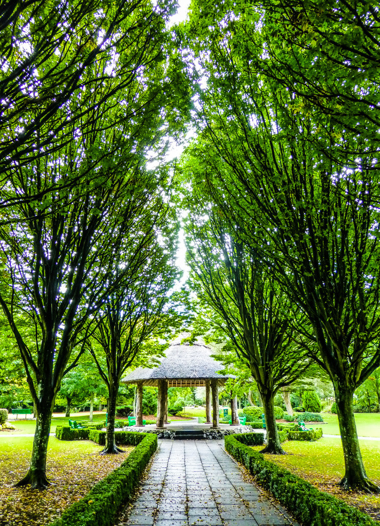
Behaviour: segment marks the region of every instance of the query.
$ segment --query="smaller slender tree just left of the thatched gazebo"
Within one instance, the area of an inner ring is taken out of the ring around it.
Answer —
[[[151,351],[148,341],[170,327],[167,292],[178,277],[173,264],[177,227],[172,212],[172,207],[159,198],[151,199],[130,225],[108,278],[113,292],[95,316],[94,345],[91,340],[88,345],[108,388],[107,436],[102,454],[120,451],[114,428],[121,376],[138,354]],[[153,350],[157,352],[160,347]],[[106,357],[106,368],[98,359],[97,348]],[[144,361],[141,356],[139,359]]]

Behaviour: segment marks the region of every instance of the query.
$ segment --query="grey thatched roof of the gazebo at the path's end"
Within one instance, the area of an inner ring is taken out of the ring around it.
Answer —
[[[223,386],[232,375],[220,375],[221,362],[211,358],[212,350],[203,342],[180,343],[174,341],[160,358],[160,365],[153,369],[139,367],[121,381],[125,383],[142,382],[143,386],[157,387],[160,379],[168,380],[168,387],[203,387],[206,380],[216,378],[218,386]]]

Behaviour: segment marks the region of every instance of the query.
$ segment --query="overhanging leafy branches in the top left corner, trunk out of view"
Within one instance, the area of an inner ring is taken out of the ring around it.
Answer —
[[[15,164],[27,166],[31,160],[54,154],[65,141],[69,143],[73,127],[86,123],[85,134],[91,135],[94,117],[105,112],[112,116],[104,129],[110,122],[120,126],[125,119],[135,120],[146,104],[154,106],[157,96],[169,101],[177,93],[177,108],[188,104],[180,93],[180,69],[176,73],[174,64],[169,76],[177,76],[175,83],[166,82],[161,70],[162,83],[156,85],[156,94],[151,92],[143,102],[139,95],[146,88],[142,84],[147,68],[160,69],[165,54],[179,59],[170,46],[170,32],[165,31],[173,6],[171,0],[155,7],[147,0],[63,0],[59,4],[17,0],[2,6],[1,207],[18,200],[43,200],[57,188],[57,181],[52,180],[49,186],[14,194],[6,183]],[[124,94],[119,100],[118,93]],[[114,100],[105,106],[109,97]],[[180,123],[176,108],[171,107],[169,118],[172,125]],[[68,174],[70,184],[79,182],[79,175],[75,171]]]

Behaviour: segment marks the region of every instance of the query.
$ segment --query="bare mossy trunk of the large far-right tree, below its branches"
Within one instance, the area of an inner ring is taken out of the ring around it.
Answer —
[[[334,390],[345,464],[340,485],[345,490],[380,493],[380,488],[368,479],[364,469],[354,417],[353,390],[338,384],[334,384]]]

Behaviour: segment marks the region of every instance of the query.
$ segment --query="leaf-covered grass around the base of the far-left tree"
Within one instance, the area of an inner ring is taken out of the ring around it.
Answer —
[[[0,464],[0,524],[43,526],[59,517],[68,505],[84,497],[93,485],[123,462],[133,447],[120,455],[99,456],[101,446],[89,440],[64,442],[50,437],[46,491],[13,485],[26,474],[33,437],[10,436],[2,440]]]

